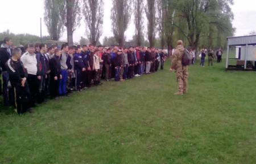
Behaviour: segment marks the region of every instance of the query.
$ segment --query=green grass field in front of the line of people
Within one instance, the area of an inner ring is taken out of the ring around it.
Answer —
[[[255,163],[256,72],[199,61],[183,96],[168,59],[157,73],[103,81],[34,114],[1,107],[0,163]]]

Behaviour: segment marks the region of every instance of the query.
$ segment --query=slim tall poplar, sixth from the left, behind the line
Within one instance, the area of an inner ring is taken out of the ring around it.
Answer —
[[[156,7],[155,0],[147,0],[147,5],[145,8],[147,16],[147,37],[150,42],[150,47],[154,46],[155,40],[155,29],[156,29]]]

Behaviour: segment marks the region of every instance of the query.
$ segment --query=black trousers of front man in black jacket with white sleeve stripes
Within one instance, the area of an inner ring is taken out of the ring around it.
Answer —
[[[30,102],[19,102],[17,97],[22,96],[24,93],[27,93],[27,96],[29,96],[30,90],[28,88],[28,84],[25,84],[24,87],[16,86],[14,92],[16,96],[17,113],[26,113],[30,109]]]

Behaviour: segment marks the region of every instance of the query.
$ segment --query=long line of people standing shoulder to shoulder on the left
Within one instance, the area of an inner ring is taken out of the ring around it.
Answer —
[[[26,44],[24,52],[11,49],[6,37],[0,49],[5,106],[15,105],[22,114],[48,96],[59,98],[69,92],[102,84],[101,79],[123,81],[163,70],[164,51],[141,46],[105,48],[103,46]],[[10,83],[9,83],[10,82]],[[15,100],[16,99],[16,100]]]

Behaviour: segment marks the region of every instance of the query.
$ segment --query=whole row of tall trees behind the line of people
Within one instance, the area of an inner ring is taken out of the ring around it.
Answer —
[[[112,0],[113,37],[104,37],[103,44],[124,46],[125,31],[133,23],[131,41],[139,46],[171,50],[177,40],[183,40],[191,49],[225,48],[226,37],[236,31],[230,8],[233,3],[233,0]],[[80,42],[94,45],[99,42],[104,28],[103,0],[44,0],[44,10],[44,23],[51,40],[59,40],[67,29],[68,44],[73,45],[73,32],[84,20],[87,38],[81,37]]]

